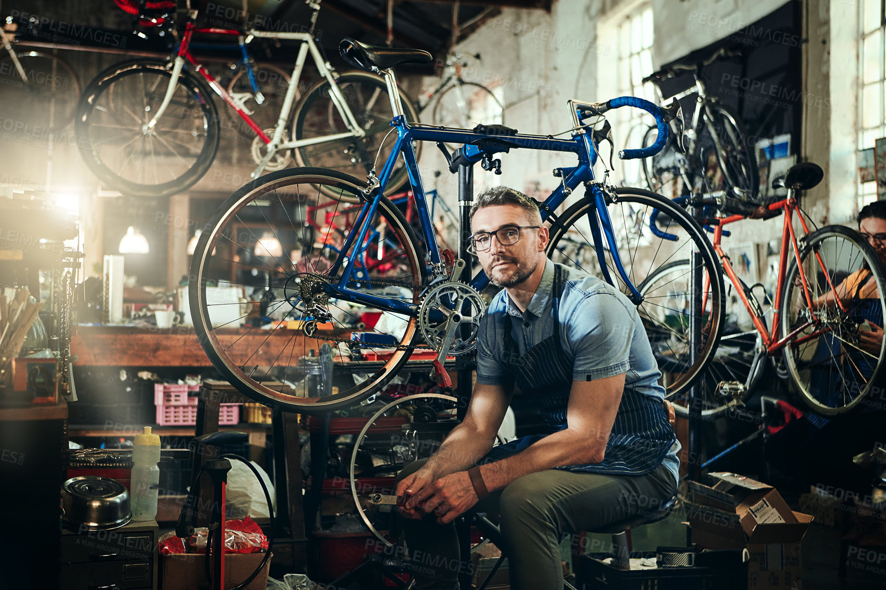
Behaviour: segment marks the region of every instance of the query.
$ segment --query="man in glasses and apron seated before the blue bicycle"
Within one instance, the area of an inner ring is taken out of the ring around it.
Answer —
[[[633,303],[548,260],[538,206],[517,190],[487,190],[470,219],[471,250],[504,290],[480,323],[464,421],[398,477],[417,587],[458,588],[452,521],[473,508],[501,515],[511,588],[562,590],[561,534],[664,504],[680,443]],[[538,400],[548,428],[493,448],[514,385]]]

